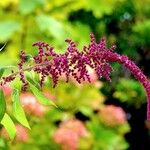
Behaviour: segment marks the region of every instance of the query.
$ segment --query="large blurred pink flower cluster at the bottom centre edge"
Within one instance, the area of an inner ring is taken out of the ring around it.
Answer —
[[[61,123],[54,134],[54,141],[60,144],[63,150],[76,150],[80,138],[87,135],[84,124],[77,119],[71,119]]]

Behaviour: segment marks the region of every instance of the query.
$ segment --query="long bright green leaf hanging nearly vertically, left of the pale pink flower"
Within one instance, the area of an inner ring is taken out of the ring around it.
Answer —
[[[26,115],[24,113],[24,110],[22,108],[22,105],[21,105],[21,102],[20,102],[20,99],[19,99],[19,92],[18,92],[17,89],[13,90],[12,99],[13,99],[13,115],[14,115],[14,117],[23,126],[30,129],[28,120],[26,118]]]

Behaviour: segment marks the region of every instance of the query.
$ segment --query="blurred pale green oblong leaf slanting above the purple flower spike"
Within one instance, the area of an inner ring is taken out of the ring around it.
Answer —
[[[57,40],[63,40],[65,33],[61,22],[47,15],[36,17],[37,24],[42,32],[52,35]]]

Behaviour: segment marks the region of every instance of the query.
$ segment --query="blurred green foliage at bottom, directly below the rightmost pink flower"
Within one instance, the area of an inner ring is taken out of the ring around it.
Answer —
[[[93,118],[92,121],[87,123],[89,130],[93,136],[93,146],[94,150],[97,149],[127,149],[128,143],[126,143],[118,132],[112,130],[111,128],[106,128],[101,126],[97,118]],[[120,127],[118,127],[120,128]],[[129,127],[127,129],[129,131]],[[103,140],[102,140],[103,139]]]

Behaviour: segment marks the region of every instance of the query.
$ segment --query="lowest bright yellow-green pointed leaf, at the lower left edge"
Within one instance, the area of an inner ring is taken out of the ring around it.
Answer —
[[[10,139],[13,140],[16,135],[16,127],[7,113],[5,113],[1,124],[5,127],[6,131],[8,132]]]

